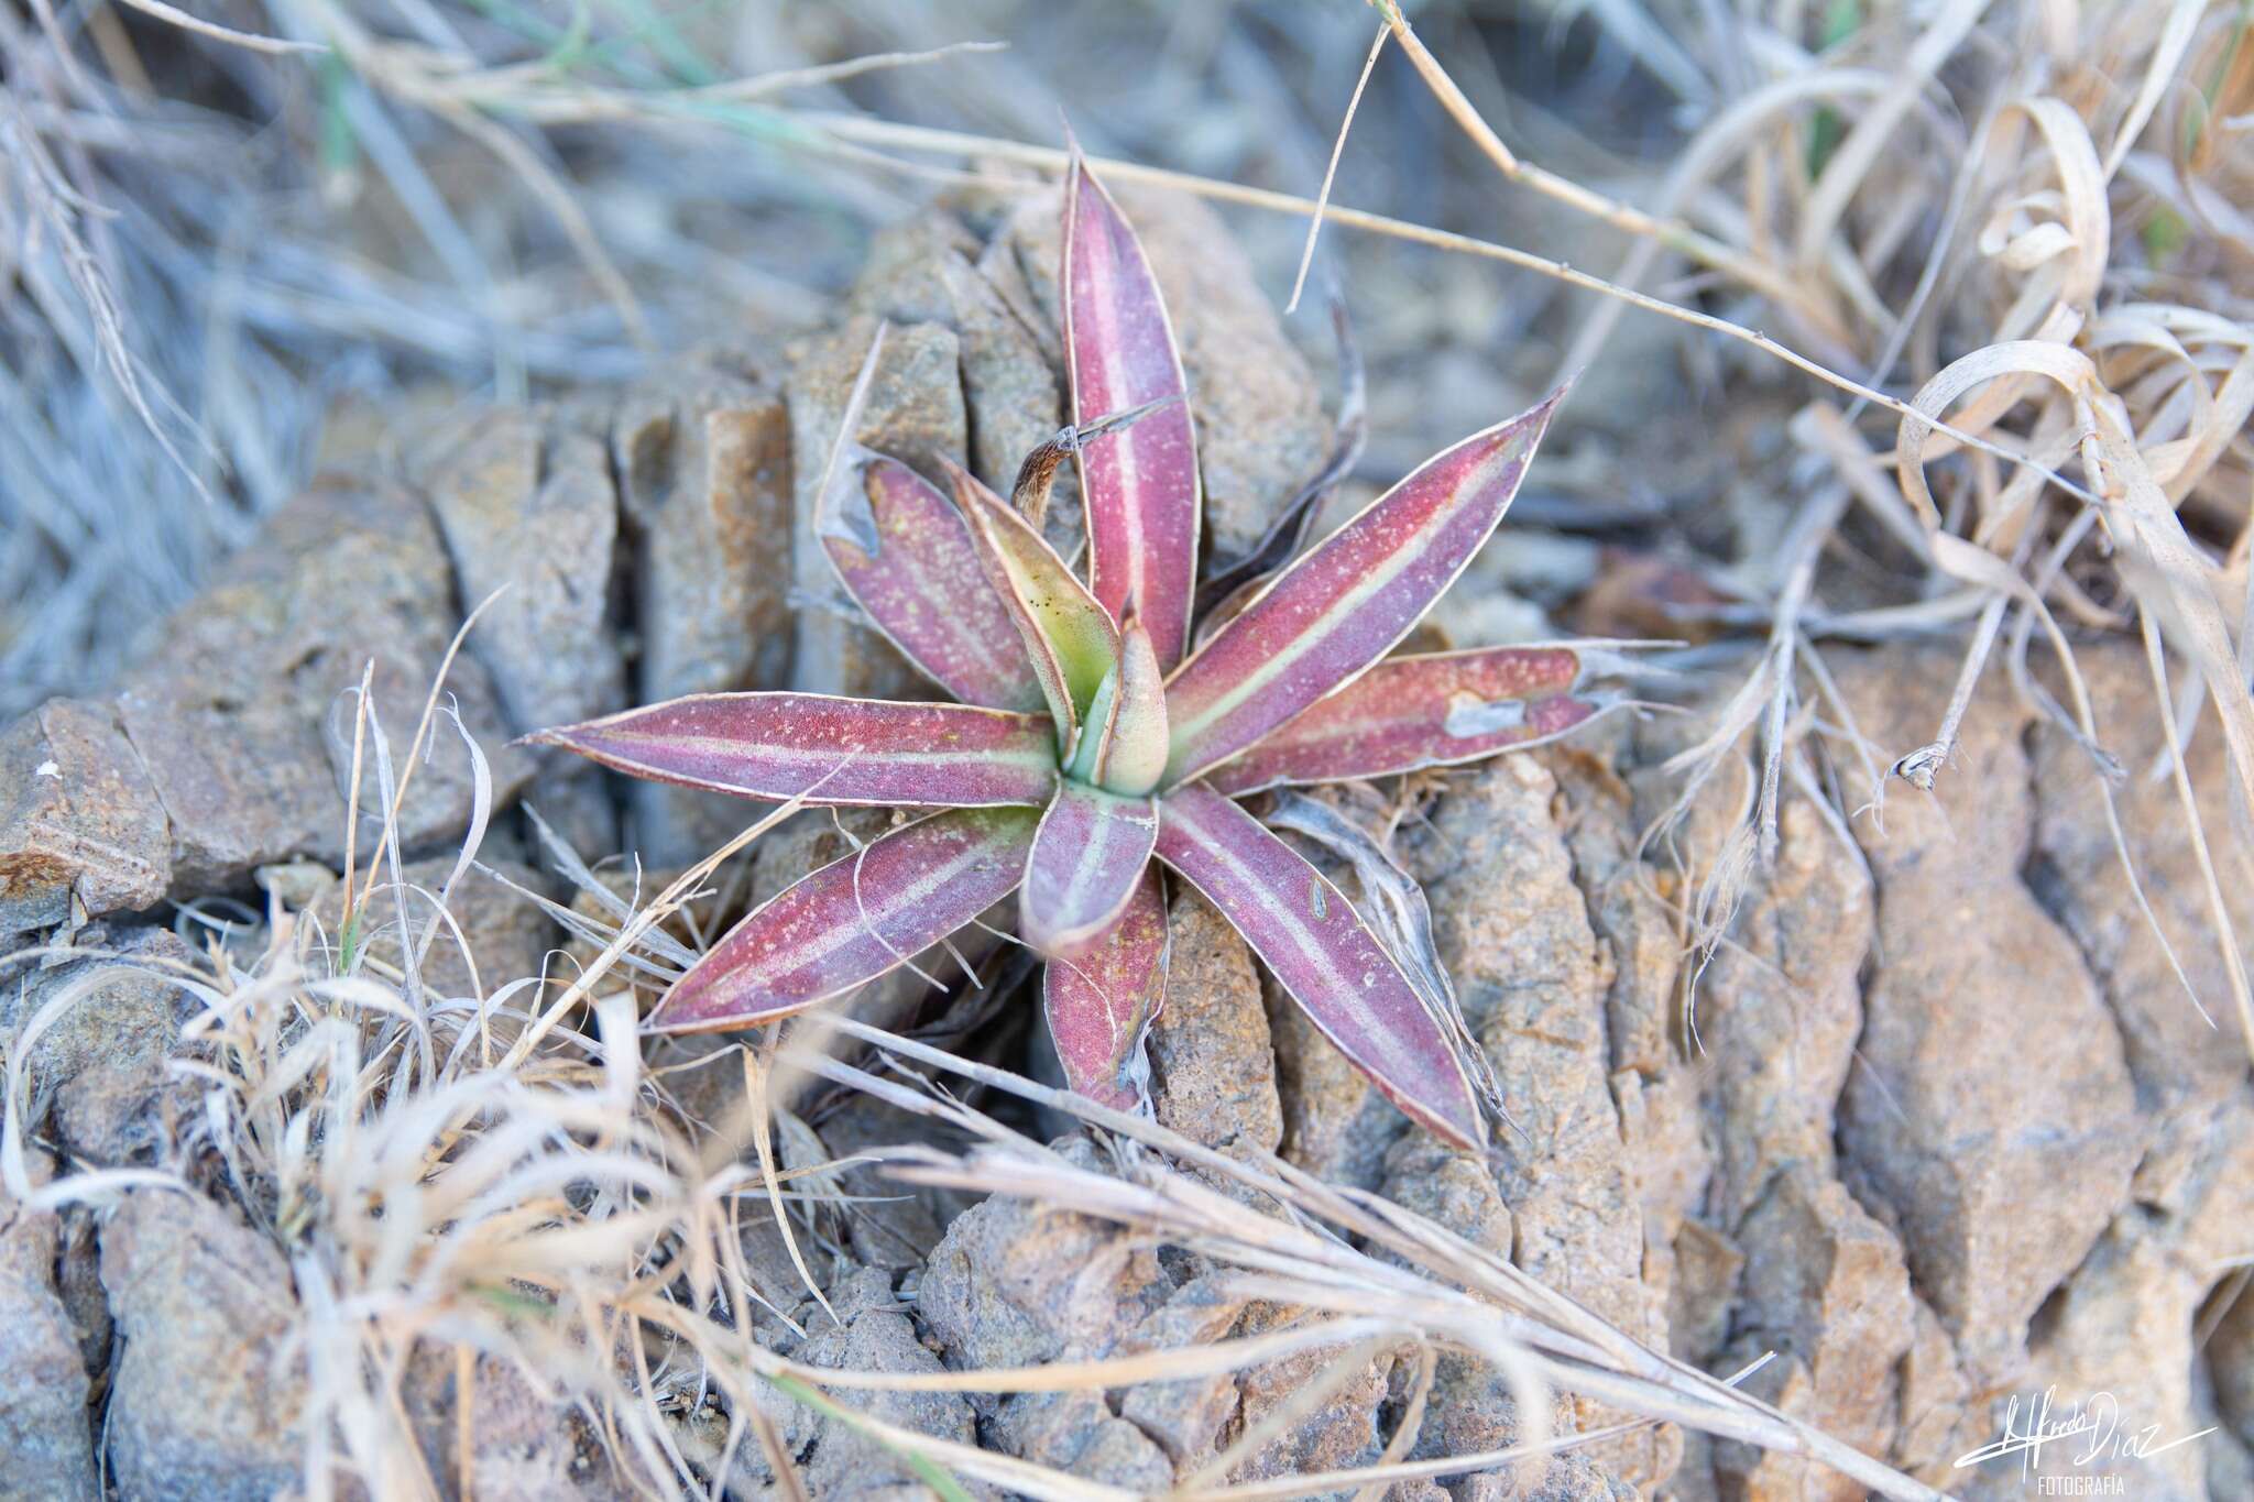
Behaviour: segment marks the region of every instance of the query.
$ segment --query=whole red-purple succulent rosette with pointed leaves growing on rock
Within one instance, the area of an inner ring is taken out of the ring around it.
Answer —
[[[958,703],[699,694],[534,736],[690,788],[935,811],[751,912],[649,1027],[802,1011],[1017,892],[1068,1083],[1134,1101],[1165,995],[1165,867],[1388,1099],[1479,1144],[1452,1002],[1237,799],[1476,761],[1591,714],[1564,649],[1388,655],[1494,531],[1558,399],[1436,455],[1197,624],[1197,444],[1168,311],[1077,158],[1064,214],[1075,426],[1028,457],[1014,495],[949,466],[949,500],[857,446],[852,419],[825,480],[818,534],[838,579]],[[1080,466],[1086,579],[1039,527],[1064,457]]]

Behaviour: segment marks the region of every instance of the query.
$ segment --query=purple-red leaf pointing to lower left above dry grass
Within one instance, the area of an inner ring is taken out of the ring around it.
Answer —
[[[832,860],[728,930],[649,1027],[755,1027],[877,980],[1010,896],[1037,824],[1028,808],[953,808]]]

